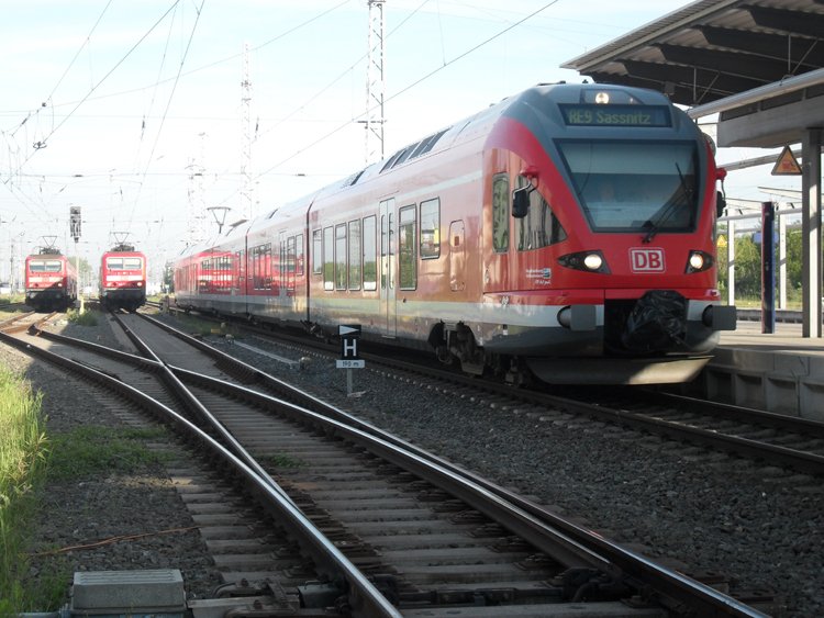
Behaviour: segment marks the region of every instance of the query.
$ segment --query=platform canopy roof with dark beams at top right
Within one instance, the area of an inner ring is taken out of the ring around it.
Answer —
[[[703,105],[824,68],[824,0],[699,0],[561,67]]]

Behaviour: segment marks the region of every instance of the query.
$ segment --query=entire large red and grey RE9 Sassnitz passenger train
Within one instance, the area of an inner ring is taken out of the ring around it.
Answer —
[[[515,382],[687,381],[735,327],[724,175],[658,92],[538,86],[189,249],[176,302]]]

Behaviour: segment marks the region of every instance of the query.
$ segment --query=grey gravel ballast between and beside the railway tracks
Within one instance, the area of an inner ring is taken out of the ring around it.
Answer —
[[[68,324],[65,333],[116,347],[105,321],[98,327]],[[314,357],[296,370],[221,338],[210,342],[666,564],[693,575],[723,573],[733,578],[736,593],[769,591],[780,600],[773,615],[824,615],[821,479],[662,446],[655,438],[553,411],[501,408],[369,369],[355,371],[356,392],[347,396],[346,372],[334,369],[334,360]],[[244,342],[272,348],[254,337]],[[301,356],[288,348],[274,351]],[[4,346],[0,359],[30,364]],[[103,397],[55,387],[52,370],[30,366],[26,372],[45,393],[49,430],[123,422],[103,406]],[[191,526],[163,470],[49,487],[42,519],[37,547]],[[177,568],[190,597],[207,597],[218,582],[193,531],[64,555],[74,570]]]

